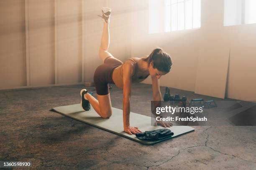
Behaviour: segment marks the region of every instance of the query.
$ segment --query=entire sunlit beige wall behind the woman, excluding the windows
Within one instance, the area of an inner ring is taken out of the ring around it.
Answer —
[[[115,57],[143,57],[155,47],[172,56],[162,86],[256,100],[256,24],[223,27],[224,0],[202,0],[200,29],[156,34],[148,34],[148,0],[0,1],[0,89],[92,81],[102,63],[102,6],[113,9]]]

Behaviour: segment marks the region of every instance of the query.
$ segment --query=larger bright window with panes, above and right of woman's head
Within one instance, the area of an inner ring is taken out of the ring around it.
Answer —
[[[200,27],[201,0],[149,0],[149,33]]]

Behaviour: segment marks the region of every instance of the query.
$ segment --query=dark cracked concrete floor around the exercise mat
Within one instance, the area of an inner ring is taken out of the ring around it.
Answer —
[[[29,161],[33,168],[54,170],[256,169],[255,126],[193,126],[195,132],[146,146],[49,111],[79,103],[82,88],[1,91],[0,160]],[[151,85],[134,84],[132,91],[131,111],[149,116]],[[214,99],[184,90],[171,93]],[[113,107],[121,109],[122,91],[113,87],[110,95]]]

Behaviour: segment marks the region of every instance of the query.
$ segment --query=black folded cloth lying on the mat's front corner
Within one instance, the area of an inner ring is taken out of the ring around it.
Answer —
[[[135,135],[137,138],[142,140],[162,140],[165,138],[172,137],[174,133],[169,129],[163,128],[163,129],[145,131],[144,133],[136,133]]]

